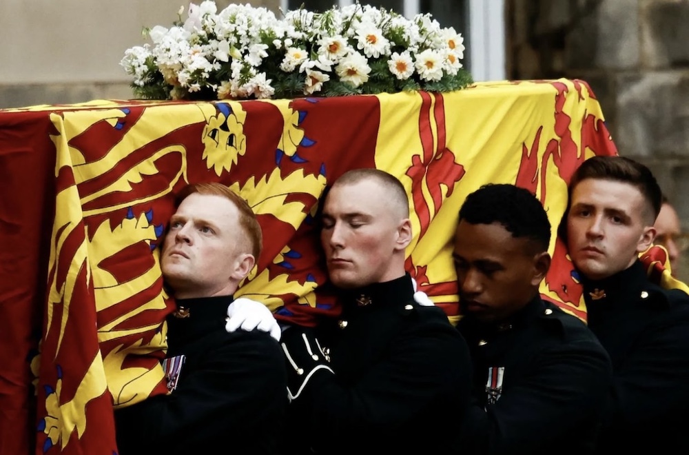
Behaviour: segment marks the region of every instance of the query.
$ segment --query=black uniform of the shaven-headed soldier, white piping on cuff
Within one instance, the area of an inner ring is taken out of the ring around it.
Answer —
[[[469,401],[462,336],[409,275],[342,296],[336,321],[282,334],[291,454],[455,454]]]

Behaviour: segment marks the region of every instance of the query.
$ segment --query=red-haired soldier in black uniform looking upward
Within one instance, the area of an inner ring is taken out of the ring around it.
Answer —
[[[170,393],[115,411],[119,454],[278,454],[288,403],[280,345],[267,332],[225,330],[260,254],[260,226],[218,183],[191,185],[178,201],[161,252],[178,305],[167,320]]]

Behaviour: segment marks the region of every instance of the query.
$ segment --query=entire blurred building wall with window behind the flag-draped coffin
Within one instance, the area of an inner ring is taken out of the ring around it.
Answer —
[[[279,14],[353,0],[250,0]],[[200,3],[200,0],[194,3]],[[218,9],[230,1],[216,1]],[[247,3],[243,1],[242,3]],[[362,2],[366,3],[366,2]],[[372,0],[431,12],[465,37],[477,81],[584,79],[620,154],[646,163],[689,231],[689,0]],[[0,109],[130,99],[124,51],[144,27],[170,26],[171,0],[2,0]],[[683,255],[679,276],[689,281]]]

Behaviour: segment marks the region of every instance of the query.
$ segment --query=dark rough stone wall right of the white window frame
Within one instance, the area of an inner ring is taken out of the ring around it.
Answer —
[[[508,0],[508,77],[584,79],[689,231],[689,0]],[[689,281],[684,255],[679,270]]]

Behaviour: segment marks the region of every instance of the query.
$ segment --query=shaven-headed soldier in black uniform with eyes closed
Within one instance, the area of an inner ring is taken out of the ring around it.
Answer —
[[[282,334],[290,454],[455,454],[469,401],[464,339],[414,301],[405,272],[409,200],[394,176],[352,170],[322,210],[321,241],[342,314]]]

